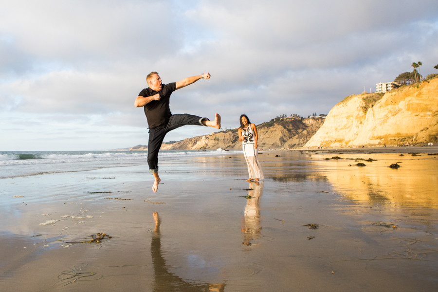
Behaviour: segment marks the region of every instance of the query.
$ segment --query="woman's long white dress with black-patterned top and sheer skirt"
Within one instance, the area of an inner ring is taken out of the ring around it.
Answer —
[[[257,149],[254,148],[256,141],[254,140],[255,133],[249,125],[246,128],[242,128],[242,148],[243,155],[245,156],[246,164],[248,165],[248,175],[250,179],[264,180],[263,171],[261,170],[260,162],[257,156]]]

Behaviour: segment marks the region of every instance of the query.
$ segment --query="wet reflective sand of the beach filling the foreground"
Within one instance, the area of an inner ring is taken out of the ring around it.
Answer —
[[[224,152],[160,162],[156,194],[146,164],[3,179],[0,291],[435,291],[437,153],[262,151],[247,183]]]

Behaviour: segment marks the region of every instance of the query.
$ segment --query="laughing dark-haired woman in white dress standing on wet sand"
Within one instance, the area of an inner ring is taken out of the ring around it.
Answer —
[[[242,141],[243,155],[248,165],[249,179],[247,181],[258,182],[263,180],[264,176],[257,156],[257,128],[256,125],[251,124],[245,114],[240,116],[239,122],[239,141]]]

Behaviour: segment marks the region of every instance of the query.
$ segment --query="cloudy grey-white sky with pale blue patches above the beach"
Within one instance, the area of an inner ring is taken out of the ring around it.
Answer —
[[[172,113],[239,126],[329,113],[422,62],[438,73],[437,0],[0,0],[0,151],[147,144],[134,100],[164,83]],[[185,126],[165,141],[209,134]]]

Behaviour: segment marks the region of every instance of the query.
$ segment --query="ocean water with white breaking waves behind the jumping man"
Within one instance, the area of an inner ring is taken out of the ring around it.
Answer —
[[[162,150],[160,162],[223,154],[223,150]],[[55,172],[147,165],[147,151],[0,151],[0,179]]]

